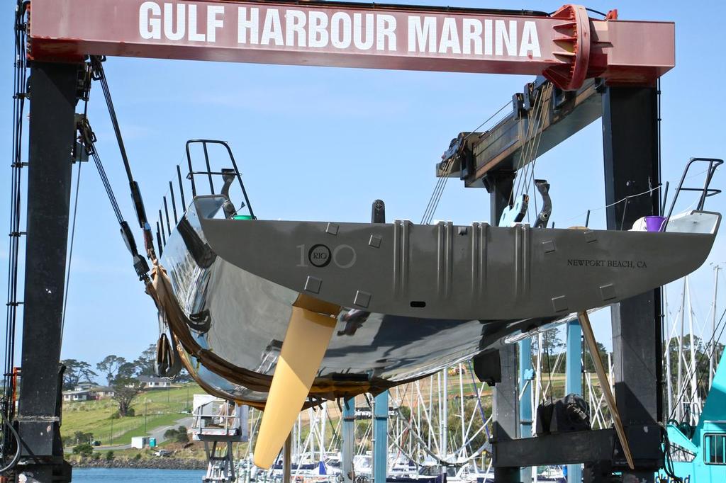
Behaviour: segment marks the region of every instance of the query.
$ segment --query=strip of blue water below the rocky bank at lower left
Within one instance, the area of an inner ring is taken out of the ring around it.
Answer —
[[[205,471],[131,468],[73,468],[73,483],[201,483]]]

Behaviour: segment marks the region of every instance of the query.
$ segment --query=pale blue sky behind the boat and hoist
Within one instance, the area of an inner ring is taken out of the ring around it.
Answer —
[[[4,2],[0,10],[0,25],[5,25],[0,33],[4,46],[0,65],[5,72],[0,76],[4,93],[0,133],[7,159],[14,4]],[[553,11],[561,2],[458,4]],[[588,7],[605,12],[619,7],[621,19],[676,22],[677,67],[664,76],[661,85],[664,181],[676,183],[688,157],[725,157],[720,99],[726,64],[717,46],[722,45],[726,4],[699,2],[697,9],[689,9],[675,1],[620,5],[594,1]],[[105,69],[131,165],[152,219],[168,181],[176,176],[174,165],[183,160],[184,141],[211,138],[229,141],[260,218],[364,221],[370,217],[372,200],[381,198],[389,220],[418,221],[436,184],[434,164],[449,141],[460,131],[475,128],[531,80],[516,75],[125,58],[110,58]],[[132,222],[126,178],[99,86],[91,92],[89,118],[121,209]],[[605,205],[602,158],[599,121],[539,158],[537,177],[547,178],[552,185],[552,220],[558,226],[584,224],[588,208]],[[0,174],[4,197],[0,226],[9,226],[8,164]],[[75,171],[73,176],[75,180]],[[714,186],[723,188],[725,176],[723,170],[717,173]],[[723,212],[725,196],[707,207]],[[483,189],[465,189],[453,179],[435,218],[462,224],[488,220],[488,195]],[[604,210],[592,213],[590,226],[604,228]],[[721,235],[709,262],[725,262],[724,248]],[[0,262],[4,269],[7,241],[0,245]],[[700,321],[705,321],[709,310],[712,277],[708,263],[693,276]],[[0,278],[4,293],[5,278]],[[722,287],[726,290],[726,284]],[[91,363],[108,354],[136,358],[155,342],[155,309],[134,277],[92,165],[83,165],[81,173],[69,290],[63,358]],[[669,289],[672,300],[679,294],[680,286]],[[725,299],[719,298],[720,313]],[[610,347],[607,315],[600,313],[593,322],[599,339]]]

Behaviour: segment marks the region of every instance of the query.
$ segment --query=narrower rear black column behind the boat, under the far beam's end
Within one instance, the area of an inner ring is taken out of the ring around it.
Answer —
[[[486,177],[485,186],[489,191],[489,210],[491,223],[497,226],[505,207],[512,196],[514,173],[496,171]],[[517,344],[505,344],[499,349],[499,361],[502,367],[502,381],[494,386],[492,413],[494,421],[492,437],[494,439],[494,460],[497,459],[497,441],[518,437],[519,429],[519,398],[517,377]],[[497,483],[519,483],[520,468],[494,466],[494,480]]]

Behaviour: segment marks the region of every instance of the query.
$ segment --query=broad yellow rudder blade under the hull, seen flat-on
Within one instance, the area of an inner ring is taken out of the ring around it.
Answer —
[[[269,468],[293,429],[320,367],[337,320],[293,306],[262,415],[254,462]]]

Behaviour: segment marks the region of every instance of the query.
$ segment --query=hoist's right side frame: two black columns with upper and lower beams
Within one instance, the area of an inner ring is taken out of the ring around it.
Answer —
[[[467,187],[486,189],[492,220],[516,211],[515,176],[537,157],[523,156],[523,151],[536,117],[533,99],[545,86],[544,78],[528,83],[513,96],[509,115],[489,131],[460,133],[436,166],[437,176],[458,177]],[[600,79],[586,80],[574,91],[555,87],[554,102],[537,125],[537,154],[542,154],[602,118],[608,229],[627,229],[638,218],[662,214],[656,189],[660,185],[659,94],[656,86],[608,86]],[[643,192],[646,195],[637,196]],[[623,199],[627,202],[619,202]],[[501,380],[494,387],[492,448],[497,482],[521,481],[521,467],[563,463],[586,463],[586,482],[609,481],[606,478],[612,471],[653,481],[663,461],[661,290],[613,305],[611,313],[616,403],[635,469],[628,467],[614,429],[537,437],[521,434],[526,421],[520,421],[517,347],[510,344],[499,350],[501,368],[496,376]],[[579,482],[579,473],[573,479]]]

